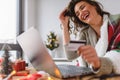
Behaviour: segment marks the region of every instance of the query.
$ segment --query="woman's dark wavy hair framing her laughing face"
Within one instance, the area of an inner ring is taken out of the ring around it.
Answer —
[[[76,16],[75,11],[74,11],[74,7],[78,2],[87,2],[90,5],[94,6],[96,8],[97,13],[103,17],[104,14],[109,15],[109,12],[103,11],[103,6],[101,3],[97,2],[97,1],[93,1],[93,0],[71,0],[68,4],[67,7],[67,16],[69,16],[71,18],[71,20],[74,22],[75,24],[75,30],[78,31],[79,27],[83,27],[83,26],[87,26],[88,24],[80,21],[80,19]]]

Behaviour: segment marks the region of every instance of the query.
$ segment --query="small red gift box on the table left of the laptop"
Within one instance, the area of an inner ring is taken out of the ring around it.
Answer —
[[[13,70],[15,71],[23,71],[25,70],[25,61],[24,60],[17,60],[13,64]]]

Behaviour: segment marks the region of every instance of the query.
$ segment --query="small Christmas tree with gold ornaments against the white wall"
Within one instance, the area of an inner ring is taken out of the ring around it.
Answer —
[[[49,35],[47,35],[46,47],[50,50],[54,50],[55,48],[59,47],[57,35],[52,31]]]

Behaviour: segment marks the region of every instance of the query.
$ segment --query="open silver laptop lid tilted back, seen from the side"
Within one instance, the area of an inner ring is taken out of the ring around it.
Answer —
[[[44,70],[55,77],[62,78],[60,71],[43,44],[39,32],[35,28],[31,27],[20,34],[17,41],[36,70]]]

